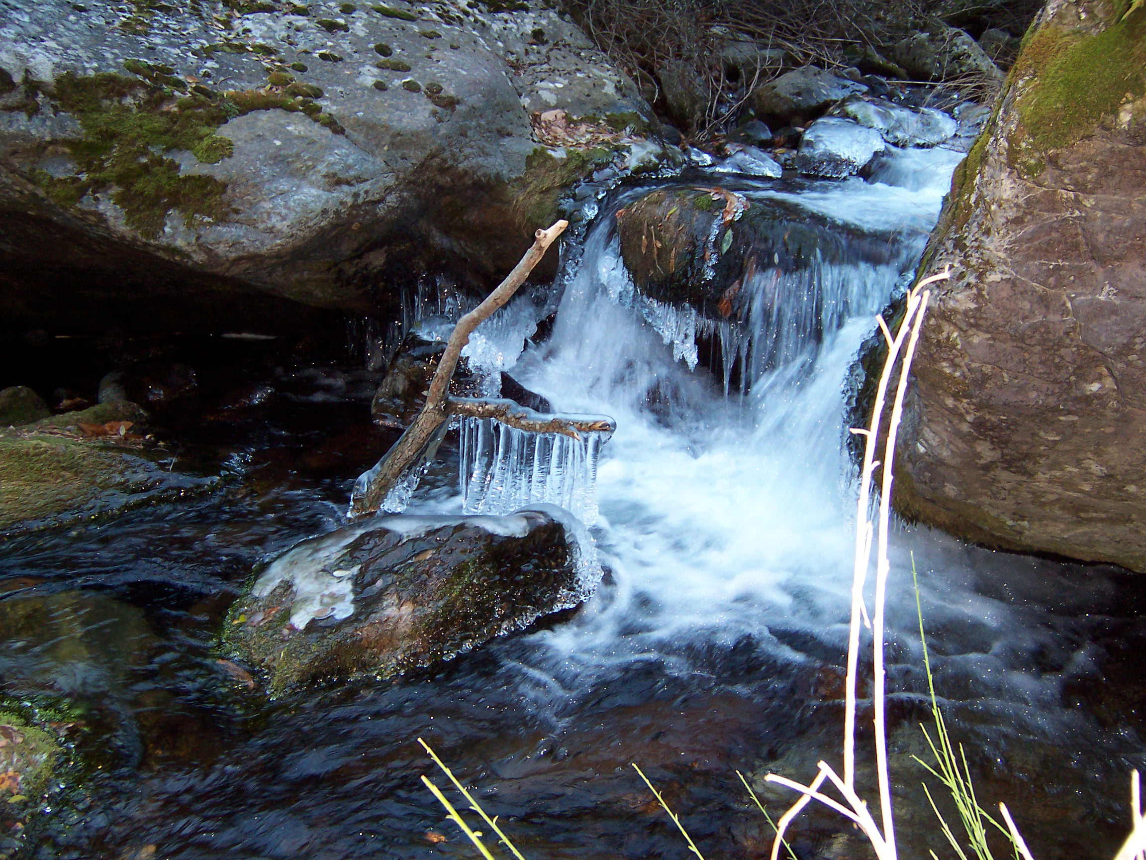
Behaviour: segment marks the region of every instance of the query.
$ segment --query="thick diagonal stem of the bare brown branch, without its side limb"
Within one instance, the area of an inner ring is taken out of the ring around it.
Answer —
[[[505,280],[486,296],[480,305],[462,316],[454,326],[454,331],[446,342],[446,351],[442,353],[438,369],[434,370],[433,380],[430,382],[430,392],[422,412],[374,468],[366,487],[351,498],[348,511],[351,517],[377,514],[390,490],[401,480],[406,470],[417,462],[433,435],[449,417],[446,392],[449,389],[454,370],[457,369],[457,361],[462,357],[462,347],[470,342],[473,329],[513,297],[518,287],[525,283],[525,279],[529,276],[533,267],[545,256],[549,245],[565,232],[566,227],[568,227],[568,221],[562,220],[548,229],[539,229],[534,234],[533,245],[525,252],[513,271],[505,276]]]

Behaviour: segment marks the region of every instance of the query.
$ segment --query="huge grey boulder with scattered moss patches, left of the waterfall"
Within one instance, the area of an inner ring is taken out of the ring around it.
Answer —
[[[502,273],[612,155],[541,146],[533,115],[588,117],[606,150],[651,117],[573,24],[511,6],[9,9],[5,323],[218,325],[221,300],[367,308],[395,263]]]

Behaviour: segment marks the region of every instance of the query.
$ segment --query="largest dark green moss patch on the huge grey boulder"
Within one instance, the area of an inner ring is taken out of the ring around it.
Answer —
[[[257,89],[214,92],[196,86],[188,93],[185,83],[171,77],[171,67],[143,61],[124,65],[140,77],[65,72],[50,85],[33,85],[54,110],[73,115],[84,132],[64,143],[74,173],[57,177],[37,170],[33,178],[62,206],[76,208],[87,196],[110,194],[127,225],[147,237],[158,236],[173,211],[187,226],[199,218],[220,221],[231,213],[223,201],[226,182],[183,173],[170,155],[188,151],[204,164],[229,158],[234,142],[217,133],[227,122],[252,111],[284,110],[344,133],[315,103],[322,91],[284,71],[272,72],[268,86]]]

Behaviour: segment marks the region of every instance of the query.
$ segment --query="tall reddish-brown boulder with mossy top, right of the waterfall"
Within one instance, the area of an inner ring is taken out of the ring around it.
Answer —
[[[1146,571],[1146,7],[1052,0],[955,173],[898,509]]]

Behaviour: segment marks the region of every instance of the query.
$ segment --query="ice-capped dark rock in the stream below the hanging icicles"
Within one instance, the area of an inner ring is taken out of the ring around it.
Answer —
[[[312,538],[254,580],[223,639],[273,694],[432,666],[584,599],[567,517],[391,516]]]

